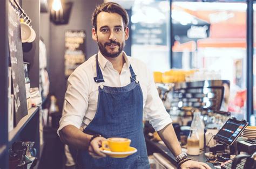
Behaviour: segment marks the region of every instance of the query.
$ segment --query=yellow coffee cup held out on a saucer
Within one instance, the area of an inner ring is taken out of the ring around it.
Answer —
[[[131,140],[129,138],[111,137],[102,142],[102,148],[107,151],[125,152],[130,144]]]

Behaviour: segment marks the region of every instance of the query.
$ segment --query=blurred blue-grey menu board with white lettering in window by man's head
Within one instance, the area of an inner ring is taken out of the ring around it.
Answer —
[[[170,2],[138,2],[132,8],[132,44],[167,46]]]

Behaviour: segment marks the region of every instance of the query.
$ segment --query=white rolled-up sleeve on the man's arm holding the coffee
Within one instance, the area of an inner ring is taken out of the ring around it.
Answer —
[[[83,74],[83,77],[81,76]],[[88,107],[88,84],[86,76],[80,70],[73,72],[68,79],[68,89],[66,90],[63,105],[62,118],[59,121],[57,133],[66,125],[74,125],[80,128],[83,117]]]

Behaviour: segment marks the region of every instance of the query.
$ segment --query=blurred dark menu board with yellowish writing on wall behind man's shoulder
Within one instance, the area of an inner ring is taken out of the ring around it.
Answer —
[[[65,32],[65,76],[85,61],[85,31]]]

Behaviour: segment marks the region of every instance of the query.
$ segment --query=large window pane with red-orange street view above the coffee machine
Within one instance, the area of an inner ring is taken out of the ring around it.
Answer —
[[[173,2],[174,68],[214,71],[225,80],[222,110],[246,119],[246,3]]]

